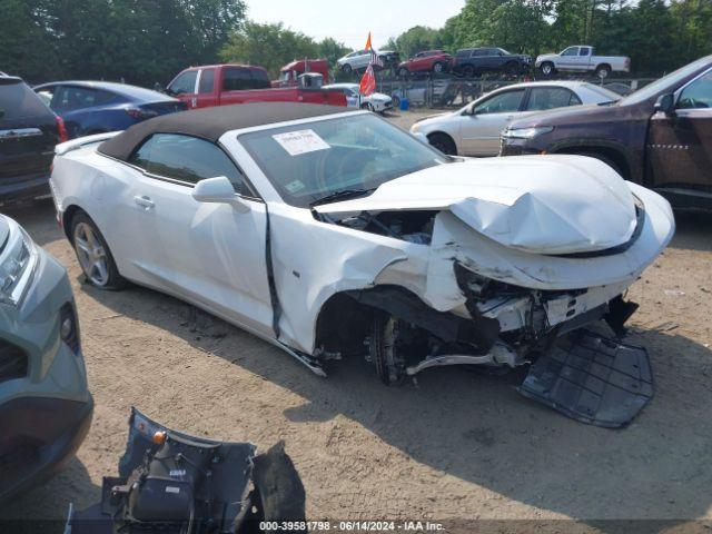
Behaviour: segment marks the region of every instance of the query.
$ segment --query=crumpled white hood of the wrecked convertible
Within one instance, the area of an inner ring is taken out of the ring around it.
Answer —
[[[534,254],[604,250],[635,231],[633,195],[607,165],[581,156],[485,158],[388,181],[320,214],[448,209],[496,243]]]

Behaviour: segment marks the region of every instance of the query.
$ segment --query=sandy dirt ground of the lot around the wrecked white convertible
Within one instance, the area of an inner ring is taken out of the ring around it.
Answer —
[[[285,439],[313,520],[538,520],[496,532],[605,532],[601,520],[637,518],[670,520],[640,532],[710,532],[689,523],[712,518],[710,215],[679,215],[672,246],[631,290],[641,308],[627,340],[650,352],[656,394],[610,431],[456,367],[397,388],[357,360],[319,378],[221,320],[189,324],[171,297],[86,285],[51,202],[8,212],[69,269],[96,412],[78,457],[6,518],[59,518],[70,501],[97,501],[135,405],[191,434],[263,449]]]

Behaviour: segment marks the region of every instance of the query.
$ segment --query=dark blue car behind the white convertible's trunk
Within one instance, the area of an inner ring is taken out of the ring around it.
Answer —
[[[58,81],[33,88],[65,120],[70,139],[129,126],[188,107],[162,92],[108,81]]]

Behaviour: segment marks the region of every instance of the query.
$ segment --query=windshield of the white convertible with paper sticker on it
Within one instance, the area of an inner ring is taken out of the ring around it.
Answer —
[[[254,131],[239,141],[281,198],[301,208],[339,191],[367,194],[394,178],[452,161],[372,115]]]

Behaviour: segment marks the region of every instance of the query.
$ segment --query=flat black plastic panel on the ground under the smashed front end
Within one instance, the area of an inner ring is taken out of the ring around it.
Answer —
[[[582,423],[627,425],[653,397],[647,352],[584,332],[542,355],[520,393]]]

